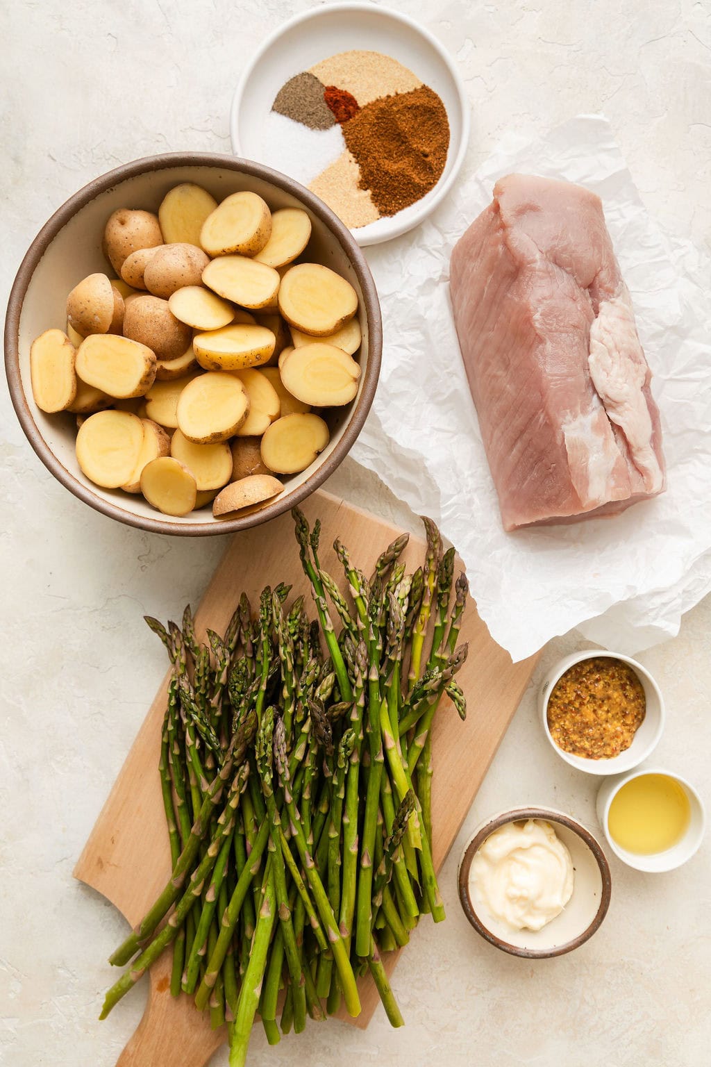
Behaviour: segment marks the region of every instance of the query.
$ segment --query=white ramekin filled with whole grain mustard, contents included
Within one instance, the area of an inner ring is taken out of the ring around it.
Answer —
[[[561,659],[540,687],[546,736],[588,775],[619,775],[646,760],[664,729],[664,700],[649,671],[619,652],[584,649]]]

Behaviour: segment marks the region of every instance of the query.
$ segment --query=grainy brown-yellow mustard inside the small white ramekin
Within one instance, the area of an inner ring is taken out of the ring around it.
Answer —
[[[610,656],[566,670],[548,699],[548,729],[564,752],[611,760],[625,752],[642,726],[646,697],[628,664]]]

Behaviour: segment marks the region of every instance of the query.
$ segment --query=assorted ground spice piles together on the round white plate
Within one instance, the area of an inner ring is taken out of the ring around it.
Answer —
[[[301,180],[308,160],[322,161],[333,147],[332,161],[320,162],[306,184],[351,228],[417,203],[445,170],[450,140],[445,105],[382,52],[354,50],[322,60],[290,78],[272,110],[300,124],[298,143],[284,138],[281,128],[279,137],[285,148],[304,157]],[[270,161],[278,165],[273,155]],[[293,173],[289,165],[281,169]]]

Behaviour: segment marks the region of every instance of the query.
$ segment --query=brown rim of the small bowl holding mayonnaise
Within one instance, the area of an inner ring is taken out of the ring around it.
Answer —
[[[572,830],[572,832],[577,833],[584,844],[587,845],[595,857],[598,870],[600,871],[602,892],[600,893],[600,903],[598,904],[593,921],[577,937],[571,938],[569,941],[565,941],[563,944],[559,944],[553,949],[526,949],[521,945],[512,944],[511,941],[505,941],[503,938],[500,938],[497,934],[494,934],[490,929],[488,929],[488,927],[481,921],[474,910],[469,895],[469,869],[478,849],[484,843],[486,838],[488,838],[490,833],[494,833],[495,830],[498,830],[499,827],[523,818],[540,818],[549,823],[560,823],[561,826],[565,826],[567,829]],[[584,944],[585,941],[588,941],[593,937],[602,924],[602,920],[608,913],[612,896],[612,875],[610,873],[610,864],[608,863],[608,858],[604,855],[602,846],[598,840],[585,826],[582,825],[582,823],[579,823],[578,819],[573,818],[571,815],[567,815],[562,811],[556,811],[554,808],[542,807],[512,808],[508,811],[500,812],[498,815],[492,815],[490,818],[487,818],[486,822],[479,827],[464,850],[457,874],[457,885],[459,891],[459,903],[462,904],[465,915],[476,933],[496,949],[501,949],[502,952],[507,952],[512,956],[521,956],[524,959],[551,959],[554,956],[564,956],[568,952],[572,952],[573,949],[578,949],[581,944]]]

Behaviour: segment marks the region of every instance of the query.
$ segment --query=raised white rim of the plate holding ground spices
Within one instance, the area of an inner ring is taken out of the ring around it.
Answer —
[[[277,26],[270,34],[268,34],[266,37],[264,37],[252,57],[249,63],[247,63],[247,65],[243,68],[232,95],[232,102],[229,112],[229,134],[233,152],[239,153],[241,150],[239,116],[240,109],[242,107],[242,97],[244,96],[249,78],[252,77],[258,63],[262,60],[264,53],[272,47],[275,41],[278,41],[278,38],[285,33],[289,33],[294,29],[294,27],[300,26],[302,22],[306,22],[312,18],[322,18],[324,15],[328,15],[332,12],[351,12],[354,15],[358,15],[360,13],[379,15],[384,18],[391,18],[393,21],[401,22],[407,26],[410,30],[415,30],[430,45],[433,51],[438,54],[439,59],[449,70],[459,102],[462,137],[457,145],[456,154],[453,158],[452,169],[447,178],[445,180],[440,178],[434,187],[433,195],[427,201],[426,205],[424,205],[414,218],[410,218],[409,221],[402,220],[398,223],[395,221],[398,218],[397,214],[386,220],[378,219],[378,222],[385,221],[389,223],[386,227],[386,233],[384,233],[383,236],[368,235],[365,233],[365,230],[368,229],[367,226],[363,226],[360,229],[349,230],[353,236],[354,241],[356,241],[361,248],[368,248],[371,244],[383,244],[385,241],[390,241],[395,237],[401,237],[403,234],[406,234],[416,226],[419,226],[420,223],[423,222],[436,207],[439,207],[443,197],[447,196],[450,189],[454,185],[467,155],[467,146],[469,144],[471,133],[471,102],[467,95],[464,79],[455,66],[453,58],[447,51],[445,46],[437,39],[437,37],[435,37],[435,35],[425,26],[418,22],[417,19],[413,18],[410,15],[406,15],[405,12],[394,11],[392,7],[382,7],[379,4],[375,5],[373,3],[363,3],[362,0],[343,0],[343,2],[339,3],[327,2],[325,4],[320,4],[317,7],[309,7],[306,11],[292,16],[286,21],[280,22],[279,26]]]

